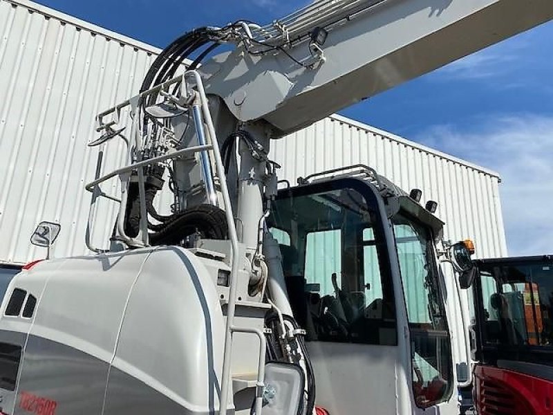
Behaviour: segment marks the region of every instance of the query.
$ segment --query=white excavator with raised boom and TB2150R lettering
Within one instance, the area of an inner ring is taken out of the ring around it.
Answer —
[[[97,116],[88,223],[118,203],[109,249],[87,236],[94,255],[8,287],[0,413],[458,414],[438,257],[465,244],[371,167],[279,183],[270,141],[552,18],[550,0],[320,0],[176,39]]]

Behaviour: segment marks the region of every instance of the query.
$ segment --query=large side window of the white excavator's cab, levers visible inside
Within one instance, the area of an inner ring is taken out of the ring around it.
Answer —
[[[283,271],[308,340],[397,344],[392,283],[382,281],[379,260],[386,243],[361,193],[279,196],[269,223],[290,235]]]

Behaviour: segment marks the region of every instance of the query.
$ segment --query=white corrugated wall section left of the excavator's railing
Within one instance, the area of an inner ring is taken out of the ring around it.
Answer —
[[[34,3],[0,0],[0,243],[2,262],[44,256],[28,243],[41,220],[62,224],[57,256],[82,255],[99,149],[94,116],[136,93],[158,50]],[[28,6],[28,7],[26,7]],[[122,123],[129,125],[128,114]],[[104,169],[124,158],[109,144]],[[115,192],[117,183],[106,183]],[[105,246],[115,203],[100,202],[93,240]]]

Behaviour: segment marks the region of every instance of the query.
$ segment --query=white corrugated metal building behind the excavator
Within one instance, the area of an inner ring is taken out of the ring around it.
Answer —
[[[0,34],[0,264],[44,257],[29,243],[42,220],[62,224],[54,255],[85,254],[94,116],[138,91],[160,50],[28,0],[0,0]],[[281,178],[369,165],[438,201],[447,239],[471,237],[479,257],[507,254],[494,172],[341,116],[272,145]],[[122,160],[122,145],[107,155],[103,172]],[[102,245],[115,205],[97,217],[93,241]]]

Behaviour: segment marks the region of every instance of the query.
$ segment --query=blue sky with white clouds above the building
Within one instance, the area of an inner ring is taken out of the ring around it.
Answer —
[[[38,0],[162,48],[198,26],[266,23],[301,0]],[[232,5],[232,6],[229,6]],[[552,253],[553,22],[341,111],[499,172],[509,255]]]

